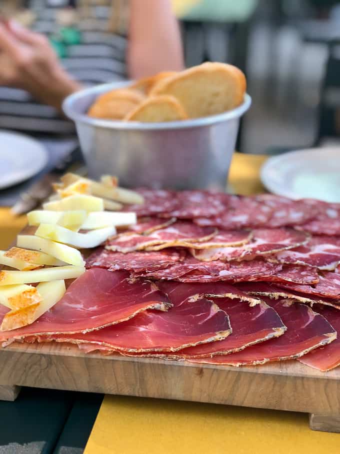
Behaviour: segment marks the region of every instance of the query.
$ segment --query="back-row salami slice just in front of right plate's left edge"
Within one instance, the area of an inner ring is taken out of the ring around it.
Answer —
[[[319,212],[316,205],[310,205],[304,200],[290,200],[272,194],[260,194],[255,200],[272,208],[271,216],[266,227],[294,226],[313,219]]]

